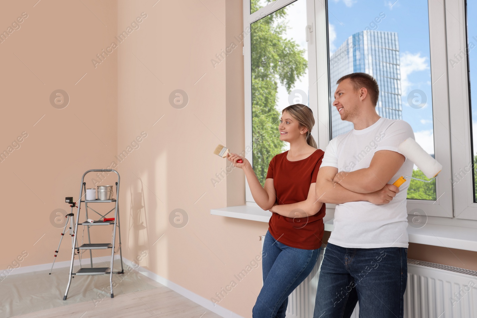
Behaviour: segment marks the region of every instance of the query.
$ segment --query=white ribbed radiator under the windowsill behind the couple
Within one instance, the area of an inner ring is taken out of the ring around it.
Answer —
[[[310,275],[288,297],[287,318],[313,317],[324,251],[321,247]],[[359,317],[357,304],[351,317]],[[477,271],[408,259],[404,317],[477,318]]]

